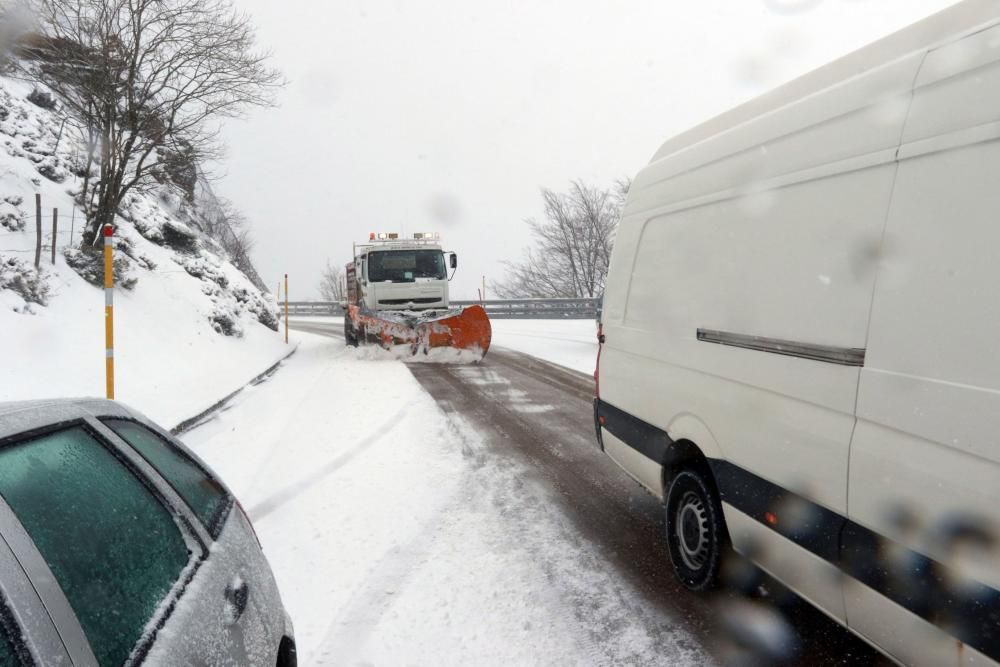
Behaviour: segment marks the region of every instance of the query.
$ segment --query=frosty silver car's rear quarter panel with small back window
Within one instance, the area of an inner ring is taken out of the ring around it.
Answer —
[[[266,612],[281,609],[280,597],[269,569],[257,566],[263,560],[260,547],[232,494],[200,461],[152,425],[131,418],[100,421],[183,499],[211,544],[208,558],[167,626],[171,634],[197,641],[180,646],[163,643],[153,647],[153,655],[174,659],[183,655],[191,664],[274,664],[283,628],[268,623]],[[214,655],[203,648],[211,646],[219,648]]]

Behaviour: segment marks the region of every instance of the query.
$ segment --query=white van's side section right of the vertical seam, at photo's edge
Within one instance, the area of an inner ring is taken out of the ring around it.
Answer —
[[[903,661],[1000,662],[1000,29],[918,80],[851,447],[849,516],[885,574],[853,573],[848,620]]]

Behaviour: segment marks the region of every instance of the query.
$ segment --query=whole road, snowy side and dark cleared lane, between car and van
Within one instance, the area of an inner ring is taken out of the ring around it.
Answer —
[[[500,346],[401,363],[306,326],[326,337],[293,332],[296,355],[184,438],[254,520],[301,664],[774,664],[780,637],[789,664],[879,664],[806,605],[679,586],[662,508],[595,445],[587,374]]]

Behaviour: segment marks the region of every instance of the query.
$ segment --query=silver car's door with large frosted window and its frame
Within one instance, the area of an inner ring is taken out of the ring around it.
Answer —
[[[0,498],[73,663],[141,662],[205,556],[183,518],[82,419],[0,442]]]

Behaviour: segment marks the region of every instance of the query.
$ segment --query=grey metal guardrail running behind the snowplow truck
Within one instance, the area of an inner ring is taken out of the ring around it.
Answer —
[[[452,306],[481,304],[495,320],[596,320],[601,314],[600,299],[491,299],[452,301]],[[288,314],[299,317],[342,317],[336,301],[289,301]]]

